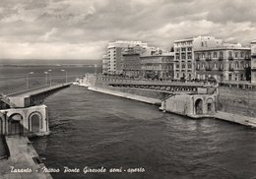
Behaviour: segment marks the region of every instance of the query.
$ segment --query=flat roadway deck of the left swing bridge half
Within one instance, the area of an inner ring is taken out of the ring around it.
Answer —
[[[72,83],[44,86],[44,87],[39,87],[39,88],[35,88],[35,89],[28,89],[28,90],[18,91],[18,92],[14,92],[14,93],[9,93],[9,94],[7,94],[7,96],[8,97],[26,97],[26,96],[31,96],[31,95],[35,95],[38,93],[46,92],[49,90],[68,87],[71,84]]]

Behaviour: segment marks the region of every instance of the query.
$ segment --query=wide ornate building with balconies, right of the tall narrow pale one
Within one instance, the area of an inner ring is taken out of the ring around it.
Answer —
[[[250,48],[240,44],[223,44],[194,50],[196,79],[248,81],[250,76]]]

